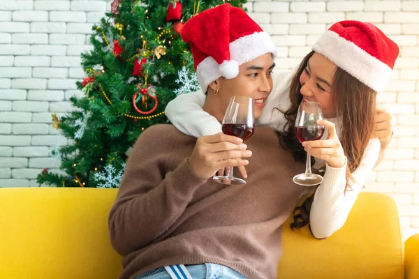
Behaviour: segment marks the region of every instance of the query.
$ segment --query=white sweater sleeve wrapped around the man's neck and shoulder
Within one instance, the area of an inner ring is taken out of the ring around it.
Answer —
[[[170,122],[186,135],[202,137],[221,133],[221,124],[203,110],[204,103],[203,91],[182,94],[168,103],[165,114]]]

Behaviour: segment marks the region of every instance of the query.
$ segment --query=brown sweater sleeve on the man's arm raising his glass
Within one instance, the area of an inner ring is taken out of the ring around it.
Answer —
[[[175,137],[167,129],[152,126],[131,151],[108,220],[110,241],[120,255],[143,248],[163,234],[206,182],[196,176],[187,160],[167,170],[174,146]]]

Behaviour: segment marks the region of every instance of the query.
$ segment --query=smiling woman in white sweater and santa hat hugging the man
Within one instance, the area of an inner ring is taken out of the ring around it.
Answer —
[[[329,120],[322,124],[329,133],[322,140],[303,142],[302,146],[311,149],[311,155],[317,158],[315,168],[325,165],[325,177],[340,177],[335,185],[321,183],[314,196],[298,208],[293,227],[307,225],[310,220],[313,235],[325,238],[346,222],[390,140],[390,117],[382,112],[376,116],[375,102],[376,94],[383,91],[390,78],[398,54],[397,45],[373,24],[337,22],[319,38],[296,73],[274,77],[274,89],[259,123],[284,133],[281,144],[293,151],[297,160],[305,160],[295,137],[295,116],[302,101],[320,103]],[[179,96],[169,103],[166,114],[189,135],[219,133],[220,123],[200,108],[203,99],[205,96],[199,92]]]

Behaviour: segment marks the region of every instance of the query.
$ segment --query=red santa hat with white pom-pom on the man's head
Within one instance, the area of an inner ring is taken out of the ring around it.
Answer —
[[[196,75],[204,92],[219,77],[237,77],[241,64],[263,54],[277,55],[270,35],[244,10],[229,3],[192,17],[181,36],[191,45]]]

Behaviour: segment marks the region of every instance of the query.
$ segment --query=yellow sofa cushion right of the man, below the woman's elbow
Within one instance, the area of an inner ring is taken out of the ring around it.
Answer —
[[[403,243],[394,200],[360,193],[344,227],[328,239],[314,239],[305,227],[286,224],[278,278],[402,279]]]

